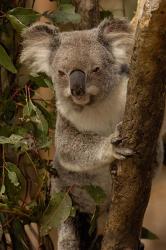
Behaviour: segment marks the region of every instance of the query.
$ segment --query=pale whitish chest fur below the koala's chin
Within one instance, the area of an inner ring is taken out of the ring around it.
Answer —
[[[105,101],[86,106],[81,112],[58,102],[58,109],[79,131],[108,135],[123,117],[126,102],[127,81],[116,86]]]

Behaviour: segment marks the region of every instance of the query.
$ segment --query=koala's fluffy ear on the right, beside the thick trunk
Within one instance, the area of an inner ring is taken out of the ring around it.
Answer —
[[[98,41],[106,46],[120,64],[129,64],[133,31],[126,19],[105,19],[98,26]]]

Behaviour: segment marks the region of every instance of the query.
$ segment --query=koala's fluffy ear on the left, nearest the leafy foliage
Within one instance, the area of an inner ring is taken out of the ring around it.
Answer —
[[[22,37],[21,63],[31,72],[50,75],[51,54],[60,45],[59,30],[54,25],[36,23],[26,28]]]

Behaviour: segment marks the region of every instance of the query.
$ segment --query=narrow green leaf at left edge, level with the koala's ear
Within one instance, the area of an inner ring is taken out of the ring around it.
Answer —
[[[17,69],[15,68],[11,58],[8,56],[2,45],[0,45],[0,65],[14,74],[17,73]]]

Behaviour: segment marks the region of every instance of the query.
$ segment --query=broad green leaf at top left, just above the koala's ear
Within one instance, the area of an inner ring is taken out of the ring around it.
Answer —
[[[15,16],[22,24],[26,26],[33,22],[36,22],[41,17],[41,14],[34,11],[33,9],[22,7],[12,9],[8,11],[8,14]]]

